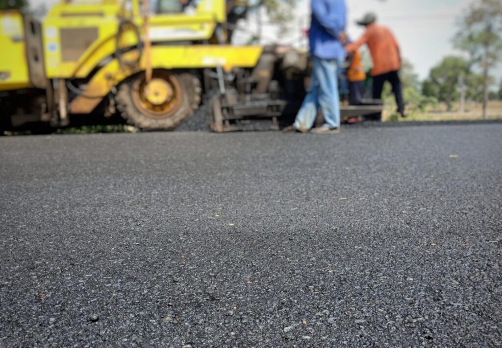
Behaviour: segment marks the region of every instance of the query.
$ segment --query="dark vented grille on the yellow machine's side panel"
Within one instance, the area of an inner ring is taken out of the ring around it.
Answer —
[[[96,41],[97,28],[66,28],[61,29],[61,61],[76,62]]]

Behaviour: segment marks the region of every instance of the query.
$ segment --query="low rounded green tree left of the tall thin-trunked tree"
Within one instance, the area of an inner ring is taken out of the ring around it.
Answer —
[[[465,81],[468,75],[469,62],[461,57],[445,57],[431,69],[429,78],[422,84],[422,93],[445,102],[451,111],[452,103],[460,96],[459,81]]]

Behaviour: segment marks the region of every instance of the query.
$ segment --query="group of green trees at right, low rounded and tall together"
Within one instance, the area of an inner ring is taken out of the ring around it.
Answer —
[[[468,58],[445,57],[431,69],[421,92],[445,102],[448,110],[454,101],[460,102],[460,112],[466,99],[481,102],[486,118],[488,100],[502,99],[502,81],[497,92],[491,89],[496,81],[490,75],[502,61],[502,1],[474,2],[458,23],[453,44]]]

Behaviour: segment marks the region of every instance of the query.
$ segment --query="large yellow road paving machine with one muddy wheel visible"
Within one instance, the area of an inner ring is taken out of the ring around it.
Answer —
[[[257,118],[277,129],[304,96],[308,54],[230,45],[246,11],[245,0],[64,0],[42,23],[0,11],[0,130],[116,113],[171,130],[213,89],[213,131]]]

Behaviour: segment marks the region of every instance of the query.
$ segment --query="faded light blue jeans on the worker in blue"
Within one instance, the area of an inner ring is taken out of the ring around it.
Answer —
[[[312,58],[312,79],[307,95],[296,115],[294,126],[300,131],[312,128],[321,107],[324,125],[329,128],[340,126],[340,96],[338,94],[338,64],[336,60]]]

